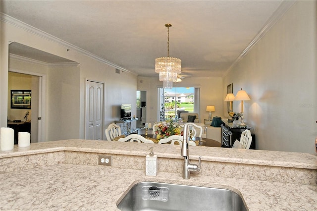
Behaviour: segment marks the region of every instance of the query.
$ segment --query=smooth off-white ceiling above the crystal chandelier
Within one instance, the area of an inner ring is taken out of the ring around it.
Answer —
[[[282,0],[1,0],[1,12],[140,76],[155,59],[182,60],[182,74],[221,77]],[[19,54],[16,47],[15,53]],[[24,52],[25,54],[25,52]],[[33,59],[36,59],[33,57]],[[50,61],[46,61],[50,62]]]

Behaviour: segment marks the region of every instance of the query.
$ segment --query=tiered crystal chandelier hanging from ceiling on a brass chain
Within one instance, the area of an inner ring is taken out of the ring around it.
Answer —
[[[177,74],[182,71],[181,60],[169,57],[169,27],[171,26],[169,23],[165,24],[165,27],[167,27],[167,57],[155,59],[155,72],[159,73],[159,80],[163,81],[164,89],[171,89],[173,82],[177,81]]]

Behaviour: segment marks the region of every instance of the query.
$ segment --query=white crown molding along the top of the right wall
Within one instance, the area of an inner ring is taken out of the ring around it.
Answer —
[[[230,65],[227,71],[223,74],[226,76],[231,69],[261,40],[261,38],[275,25],[275,23],[286,13],[286,11],[296,2],[296,0],[283,0],[275,12],[264,24],[264,27],[257,34],[257,36],[251,41],[247,48],[237,57],[237,59]]]

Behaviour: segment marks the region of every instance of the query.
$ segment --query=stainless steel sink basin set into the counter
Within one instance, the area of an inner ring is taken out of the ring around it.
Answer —
[[[117,203],[121,211],[247,211],[227,189],[157,182],[135,184]]]

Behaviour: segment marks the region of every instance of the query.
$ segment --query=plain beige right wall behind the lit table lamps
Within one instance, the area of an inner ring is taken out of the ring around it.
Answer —
[[[243,88],[251,98],[244,113],[257,149],[314,153],[316,58],[317,1],[297,1],[223,78],[223,90],[233,83],[234,95]]]

